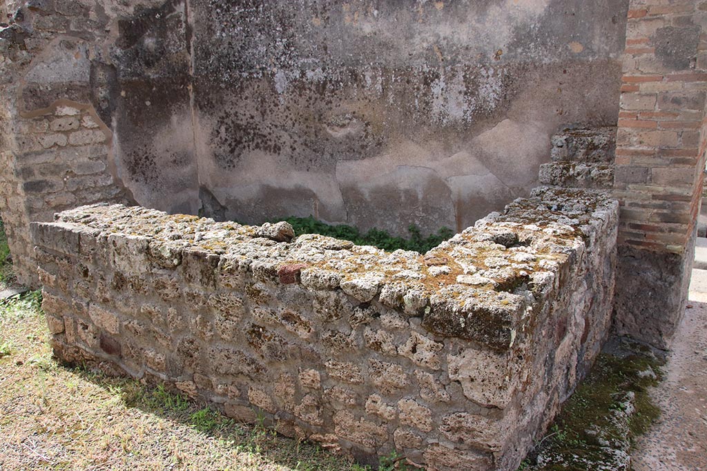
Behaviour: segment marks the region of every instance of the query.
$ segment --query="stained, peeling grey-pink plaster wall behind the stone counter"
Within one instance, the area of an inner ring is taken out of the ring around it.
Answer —
[[[146,207],[458,232],[615,123],[627,2],[0,0],[3,105],[93,105]]]

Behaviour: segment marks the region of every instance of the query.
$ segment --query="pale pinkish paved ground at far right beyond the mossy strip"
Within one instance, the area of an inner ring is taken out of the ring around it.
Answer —
[[[707,471],[707,270],[693,270],[689,299],[653,391],[662,417],[639,439],[633,471]]]

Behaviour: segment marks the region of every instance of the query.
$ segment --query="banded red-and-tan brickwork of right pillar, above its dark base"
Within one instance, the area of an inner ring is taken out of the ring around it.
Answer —
[[[617,133],[619,242],[684,253],[699,209],[707,2],[631,0]]]

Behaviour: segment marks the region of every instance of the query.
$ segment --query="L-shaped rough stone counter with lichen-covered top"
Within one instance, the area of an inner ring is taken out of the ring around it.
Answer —
[[[537,189],[425,255],[122,205],[32,232],[60,359],[363,462],[515,470],[607,333],[617,217]]]

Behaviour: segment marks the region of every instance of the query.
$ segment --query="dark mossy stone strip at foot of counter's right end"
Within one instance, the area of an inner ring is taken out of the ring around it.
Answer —
[[[661,381],[663,363],[636,344],[622,347],[600,354],[519,470],[622,469],[612,466],[660,415],[648,388]]]

